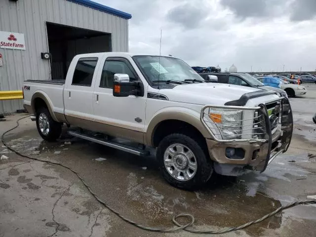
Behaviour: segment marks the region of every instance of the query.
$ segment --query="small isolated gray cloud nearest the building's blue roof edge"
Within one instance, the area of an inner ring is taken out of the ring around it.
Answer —
[[[195,5],[185,3],[172,8],[167,14],[167,19],[179,23],[185,28],[193,29],[197,28],[206,16],[207,11],[201,1]]]

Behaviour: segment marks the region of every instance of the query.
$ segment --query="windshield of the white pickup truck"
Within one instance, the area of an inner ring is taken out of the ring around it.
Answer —
[[[180,59],[160,56],[134,56],[144,76],[152,83],[204,82],[196,71]]]

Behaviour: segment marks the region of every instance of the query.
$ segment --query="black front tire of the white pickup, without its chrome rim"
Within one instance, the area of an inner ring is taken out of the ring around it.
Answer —
[[[166,149],[172,144],[184,145],[193,152],[197,162],[197,170],[195,175],[190,180],[179,181],[172,177],[172,175],[168,172],[164,164],[164,153]],[[157,158],[162,177],[170,185],[179,189],[190,191],[196,190],[205,184],[213,173],[213,163],[208,154],[206,154],[205,149],[203,150],[194,139],[184,134],[174,133],[164,137],[158,145]]]

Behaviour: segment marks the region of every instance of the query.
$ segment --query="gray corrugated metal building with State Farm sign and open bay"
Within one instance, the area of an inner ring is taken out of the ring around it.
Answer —
[[[128,51],[131,15],[90,0],[0,0],[0,90],[65,79],[74,55]],[[23,108],[0,101],[0,113]]]

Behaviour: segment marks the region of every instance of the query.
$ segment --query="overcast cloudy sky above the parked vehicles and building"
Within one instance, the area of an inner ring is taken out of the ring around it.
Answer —
[[[316,70],[316,0],[95,0],[132,14],[129,51],[238,71]]]

